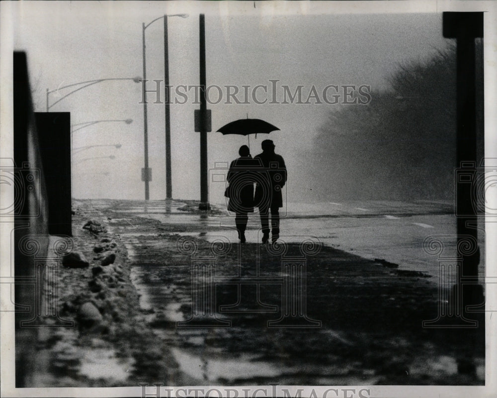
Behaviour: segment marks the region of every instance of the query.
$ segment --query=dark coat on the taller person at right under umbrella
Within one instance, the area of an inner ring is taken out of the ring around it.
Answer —
[[[262,166],[255,186],[254,206],[283,207],[281,191],[287,179],[283,157],[274,152],[264,151],[253,159]]]

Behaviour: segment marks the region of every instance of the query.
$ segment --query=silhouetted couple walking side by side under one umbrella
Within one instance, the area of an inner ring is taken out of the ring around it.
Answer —
[[[238,238],[246,242],[248,213],[254,207],[259,208],[262,227],[262,243],[269,240],[274,243],[279,237],[279,208],[283,207],[282,188],[286,183],[287,173],[283,157],[274,153],[271,140],[261,143],[262,153],[253,159],[247,145],[240,147],[240,157],[231,162],[228,171],[229,187],[225,196],[230,198],[228,210],[236,213],[235,223]],[[255,183],[255,195],[253,184]],[[269,211],[271,211],[271,229],[269,229]]]

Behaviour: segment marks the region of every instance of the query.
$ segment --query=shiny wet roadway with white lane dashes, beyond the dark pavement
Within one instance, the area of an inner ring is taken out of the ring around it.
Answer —
[[[225,203],[217,203],[225,209]],[[237,242],[234,214],[224,211],[221,215],[199,215],[181,211],[166,213],[164,204],[132,209],[140,216],[154,218],[171,224],[198,224],[193,235],[213,241],[220,235]],[[175,206],[171,207],[174,210]],[[399,265],[400,269],[421,271],[438,278],[438,256],[423,248],[425,239],[443,236],[443,256],[456,258],[456,217],[450,201],[391,201],[370,200],[351,202],[286,203],[280,209],[280,235],[286,242],[300,242],[313,236],[323,244],[368,259],[384,259]],[[479,223],[482,228],[482,223]],[[209,230],[216,227],[216,231]],[[258,213],[249,214],[246,237],[250,243],[260,239]],[[485,274],[485,236],[480,230],[479,245],[482,251],[480,275]]]

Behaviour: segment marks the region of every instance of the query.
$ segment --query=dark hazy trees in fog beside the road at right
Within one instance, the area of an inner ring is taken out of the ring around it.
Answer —
[[[477,43],[477,82],[482,46]],[[312,192],[332,199],[452,199],[456,167],[456,47],[399,64],[367,105],[331,109],[309,159]],[[483,154],[483,83],[477,84]]]

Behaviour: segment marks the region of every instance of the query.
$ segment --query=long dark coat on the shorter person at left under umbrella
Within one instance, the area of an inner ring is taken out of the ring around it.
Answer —
[[[231,162],[227,180],[230,184],[228,210],[236,213],[253,212],[253,184],[260,167],[251,157],[240,157]]]

